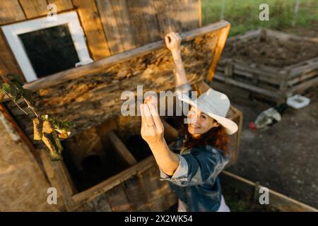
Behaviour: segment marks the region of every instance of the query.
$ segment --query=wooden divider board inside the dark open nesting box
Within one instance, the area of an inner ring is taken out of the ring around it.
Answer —
[[[122,158],[129,165],[135,165],[137,163],[137,160],[134,158],[133,155],[131,155],[130,151],[126,148],[124,143],[120,141],[118,136],[113,131],[108,132],[108,137],[110,138],[110,141],[114,146],[115,150],[117,150],[117,153],[119,153],[119,155],[122,156]]]

